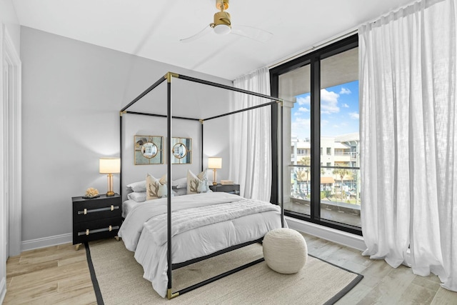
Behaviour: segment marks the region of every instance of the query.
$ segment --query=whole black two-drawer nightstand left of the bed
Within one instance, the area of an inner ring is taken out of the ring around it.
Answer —
[[[117,237],[122,224],[121,196],[100,195],[93,199],[71,197],[73,201],[73,244],[76,250],[86,241]]]

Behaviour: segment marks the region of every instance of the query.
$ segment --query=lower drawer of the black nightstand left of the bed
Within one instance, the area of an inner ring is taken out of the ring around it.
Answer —
[[[121,224],[121,217],[99,219],[98,221],[84,221],[74,224],[73,244],[117,236]]]

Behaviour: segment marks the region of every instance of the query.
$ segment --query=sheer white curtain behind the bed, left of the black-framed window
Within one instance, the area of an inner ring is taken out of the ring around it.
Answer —
[[[270,74],[262,68],[238,77],[233,86],[270,95]],[[236,92],[232,110],[267,103],[268,99]],[[271,196],[271,107],[230,116],[230,177],[240,184],[241,196],[270,201]]]

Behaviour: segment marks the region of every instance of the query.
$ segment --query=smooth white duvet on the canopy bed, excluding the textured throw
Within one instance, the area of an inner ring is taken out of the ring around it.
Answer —
[[[171,204],[172,211],[179,211],[213,204],[224,206],[229,202],[248,204],[250,201],[237,195],[214,192],[176,196]],[[259,201],[255,202],[258,204]],[[173,263],[189,261],[229,246],[254,241],[262,238],[268,231],[280,228],[279,207],[269,203],[265,205],[268,205],[269,211],[246,216],[236,215],[233,219],[229,216],[229,219],[215,223],[211,221],[204,226],[176,234],[171,242]],[[185,214],[187,211],[179,213]],[[151,281],[154,289],[165,297],[168,284],[167,244],[158,241],[158,233],[166,228],[166,217],[160,216],[161,214],[166,214],[166,198],[137,204],[127,214],[119,230],[119,236],[122,237],[127,249],[135,251],[136,261],[143,266],[144,278]],[[158,223],[159,219],[162,219],[161,223]]]

